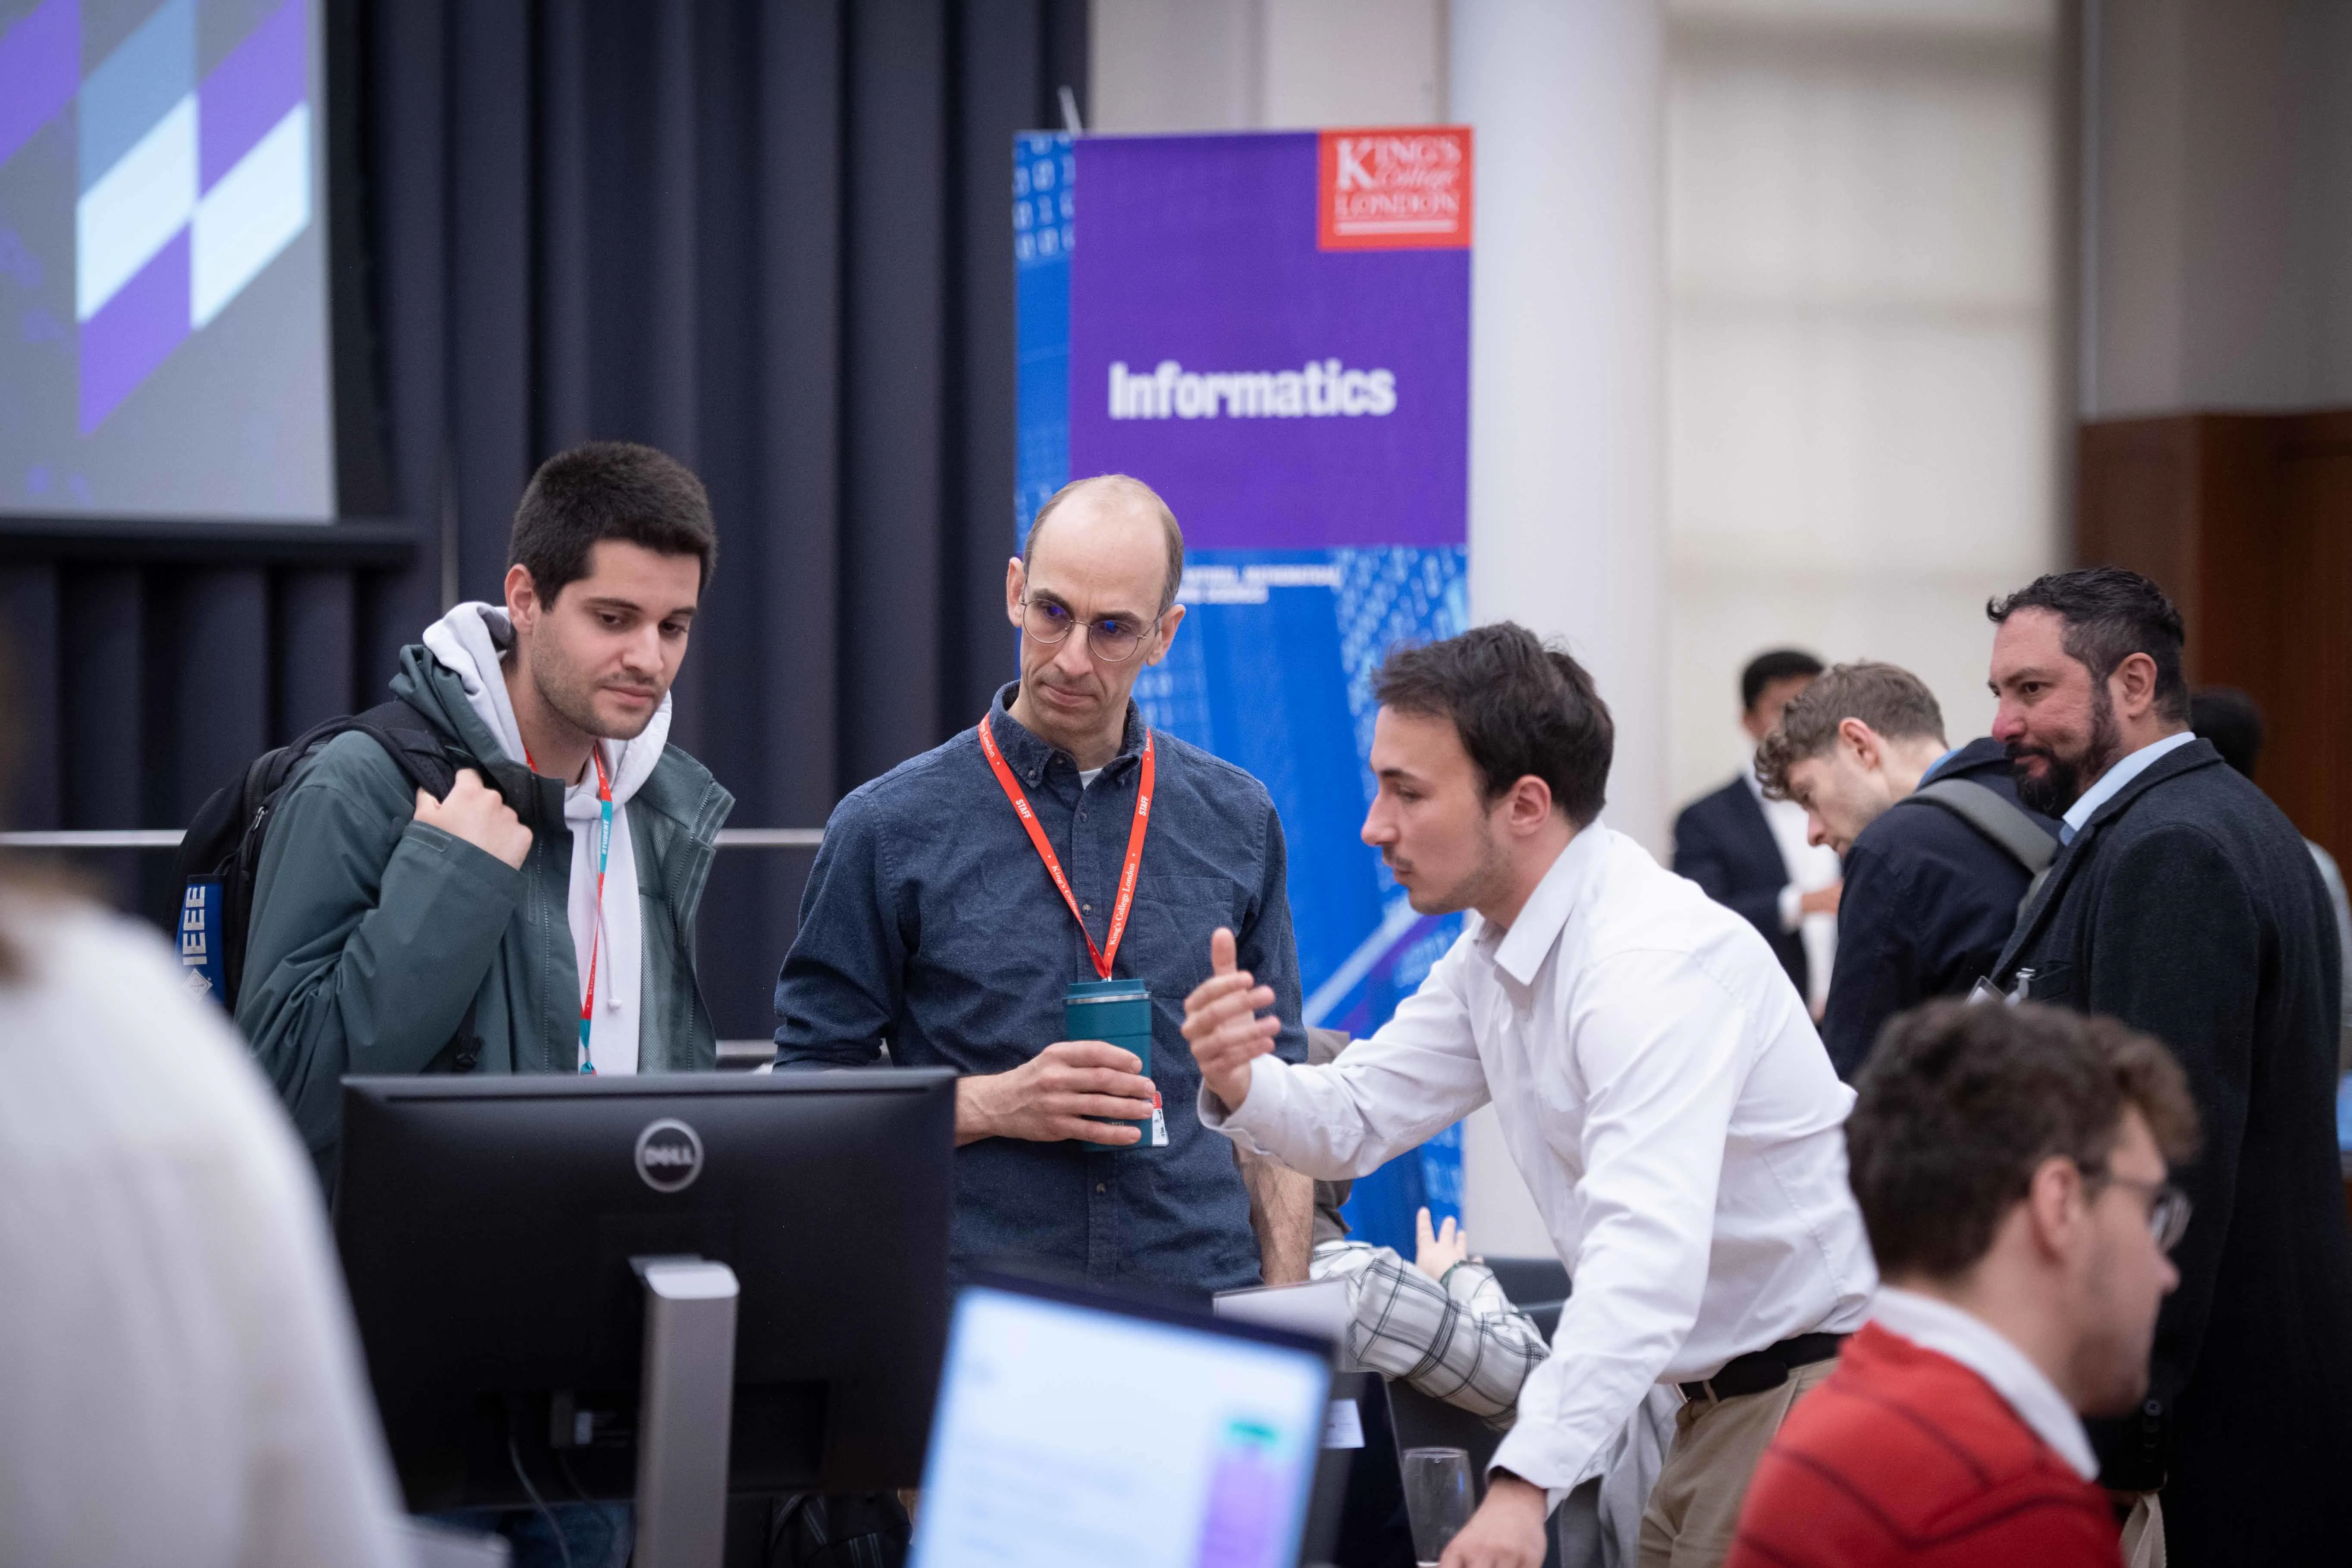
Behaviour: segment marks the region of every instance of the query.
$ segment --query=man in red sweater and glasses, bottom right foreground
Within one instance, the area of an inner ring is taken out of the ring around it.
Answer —
[[[1884,1284],[1764,1450],[1726,1568],[2117,1568],[2082,1415],[2138,1406],[2180,1279],[2180,1067],[2110,1018],[1938,1001],[1889,1023],[1856,1091]]]

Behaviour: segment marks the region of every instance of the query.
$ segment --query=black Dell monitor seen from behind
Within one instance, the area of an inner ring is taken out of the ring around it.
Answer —
[[[409,1507],[630,1497],[663,1422],[715,1427],[677,1446],[713,1500],[913,1486],[953,1150],[948,1072],[346,1079],[334,1229]]]

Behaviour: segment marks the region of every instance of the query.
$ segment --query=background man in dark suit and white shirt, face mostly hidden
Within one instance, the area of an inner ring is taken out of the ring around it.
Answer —
[[[1748,741],[1780,724],[1780,710],[1813,684],[1820,661],[1799,649],[1757,654],[1740,670],[1740,729]],[[1675,875],[1755,926],[1813,1018],[1820,1018],[1837,959],[1837,856],[1806,842],[1804,811],[1764,795],[1755,766],[1675,818]]]

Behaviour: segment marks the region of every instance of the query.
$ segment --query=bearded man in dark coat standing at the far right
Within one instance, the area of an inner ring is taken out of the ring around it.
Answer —
[[[2352,1474],[2352,1225],[2336,1152],[2340,957],[2303,835],[2190,733],[2180,614],[2114,567],[1987,604],[1992,733],[2067,846],[2002,952],[2013,1001],[2105,1013],[2187,1074],[2204,1215],[2147,1399],[2093,1422],[2103,1479],[2171,1563],[2300,1561]]]

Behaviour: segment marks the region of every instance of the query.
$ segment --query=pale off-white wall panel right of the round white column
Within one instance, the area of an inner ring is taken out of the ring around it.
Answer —
[[[2053,0],[1670,0],[1672,795],[1766,646],[1985,733],[1985,597],[2060,559]]]

